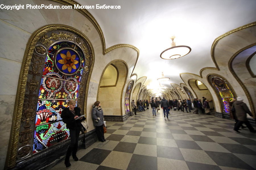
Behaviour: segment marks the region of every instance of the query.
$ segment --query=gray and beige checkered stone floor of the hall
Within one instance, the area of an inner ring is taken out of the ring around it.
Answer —
[[[164,118],[139,112],[126,122],[107,122],[106,142],[78,151],[68,169],[256,169],[256,134],[233,131],[234,121],[170,111]],[[71,160],[71,159],[70,159]],[[64,168],[64,161],[52,169]]]

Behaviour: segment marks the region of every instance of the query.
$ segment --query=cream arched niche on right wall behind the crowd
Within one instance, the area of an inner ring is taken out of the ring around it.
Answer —
[[[209,105],[210,105],[210,108],[211,109],[215,109],[215,106],[214,106],[214,100],[213,100],[213,97],[212,97],[212,94],[210,93],[210,91],[208,90],[208,88],[205,86],[205,84],[203,82],[201,82],[201,86],[203,88],[206,88],[205,90],[200,90],[198,88],[198,86],[196,85],[197,81],[199,80],[196,80],[196,79],[189,79],[188,80],[188,83],[189,83],[189,86],[190,88],[194,91],[194,93],[197,95],[198,97],[198,100],[201,99],[201,101],[203,102],[203,98],[202,97],[205,97],[207,98],[207,100],[212,100],[209,102]],[[192,99],[191,99],[192,100]]]

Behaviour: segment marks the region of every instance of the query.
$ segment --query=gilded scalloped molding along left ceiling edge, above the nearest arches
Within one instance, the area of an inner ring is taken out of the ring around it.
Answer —
[[[62,3],[64,5],[71,5],[71,6],[74,6],[74,4],[79,4],[79,3],[77,3],[76,1],[73,1],[73,0],[52,0],[52,1],[56,1],[56,2]],[[131,49],[133,49],[133,50],[135,50],[137,52],[137,59],[136,59],[135,65],[133,67],[133,71],[134,71],[135,66],[137,64],[137,61],[139,59],[139,53],[140,53],[139,49],[137,47],[131,45],[131,44],[116,44],[116,45],[113,45],[113,46],[111,46],[111,47],[106,49],[106,43],[105,43],[105,38],[104,38],[104,35],[103,35],[103,32],[102,32],[102,29],[100,28],[100,25],[98,24],[96,19],[86,9],[76,9],[76,10],[79,11],[81,14],[83,14],[86,18],[88,18],[88,20],[90,20],[90,22],[92,22],[94,27],[97,29],[97,31],[98,31],[98,33],[100,35],[101,42],[102,42],[103,55],[107,54],[108,52],[110,52],[110,51],[112,51],[114,49],[123,48],[123,47],[131,48]],[[133,71],[131,72],[131,76],[130,77],[133,76]]]

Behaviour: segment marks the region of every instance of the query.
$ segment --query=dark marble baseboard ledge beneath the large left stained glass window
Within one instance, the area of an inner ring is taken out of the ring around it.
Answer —
[[[79,142],[78,142],[79,149],[86,149],[96,141],[98,141],[98,137],[95,129],[93,129],[92,131],[89,131],[88,133],[80,134]],[[15,165],[15,167],[11,168],[11,170],[51,169],[57,163],[65,159],[65,155],[66,155],[69,144],[70,144],[70,139],[67,139],[66,141],[58,143],[53,147],[45,149],[44,151],[39,152],[38,154],[35,154],[25,160],[22,160],[22,162],[18,162]]]

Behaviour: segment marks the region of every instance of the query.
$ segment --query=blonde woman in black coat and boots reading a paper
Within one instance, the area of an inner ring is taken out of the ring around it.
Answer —
[[[70,137],[70,145],[67,149],[67,154],[65,158],[65,165],[66,167],[71,166],[69,162],[69,157],[72,152],[72,157],[75,161],[78,161],[77,158],[77,148],[78,148],[78,138],[81,130],[81,121],[85,120],[85,117],[82,117],[78,120],[77,119],[80,114],[80,108],[76,107],[76,101],[70,100],[68,102],[69,107],[63,109],[61,112],[61,118],[62,121],[67,125],[67,128],[69,129],[69,137]]]

